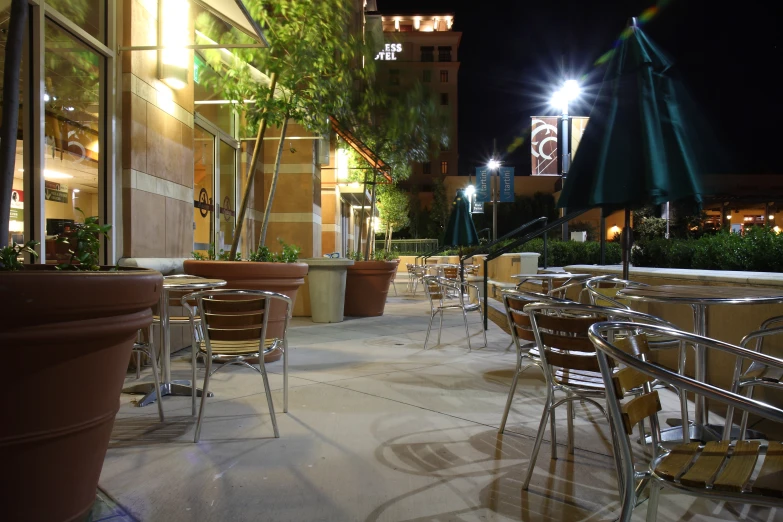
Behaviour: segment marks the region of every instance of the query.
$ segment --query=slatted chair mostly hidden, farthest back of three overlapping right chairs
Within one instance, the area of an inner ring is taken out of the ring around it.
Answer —
[[[500,421],[498,433],[503,433],[506,429],[506,421],[508,420],[509,411],[511,411],[511,403],[514,400],[514,394],[516,393],[520,374],[532,366],[543,370],[541,356],[538,353],[538,349],[535,347],[536,339],[533,335],[530,317],[523,311],[523,308],[530,303],[556,304],[568,302],[563,299],[553,298],[546,294],[523,292],[520,290],[504,290],[502,295],[503,306],[506,309],[508,328],[511,332],[511,342],[517,350],[517,365],[514,369],[514,378],[511,381],[511,388],[508,391],[506,407],[503,410],[503,418]],[[523,366],[522,362],[525,359],[530,360],[530,364]]]

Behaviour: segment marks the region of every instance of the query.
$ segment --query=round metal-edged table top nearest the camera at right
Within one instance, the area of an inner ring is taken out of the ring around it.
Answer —
[[[742,286],[660,285],[625,288],[618,298],[680,304],[772,304],[783,303],[783,288]]]

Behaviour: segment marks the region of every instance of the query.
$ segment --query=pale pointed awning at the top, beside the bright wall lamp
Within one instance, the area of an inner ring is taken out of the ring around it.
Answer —
[[[183,45],[182,49],[205,50],[205,49],[240,49],[240,48],[264,48],[269,47],[264,32],[258,22],[253,20],[250,12],[247,10],[243,0],[192,0],[192,2],[202,9],[208,11],[212,16],[227,23],[237,31],[241,31],[254,40],[254,43],[209,43]],[[163,49],[162,45],[131,45],[121,46],[120,51],[158,51]]]

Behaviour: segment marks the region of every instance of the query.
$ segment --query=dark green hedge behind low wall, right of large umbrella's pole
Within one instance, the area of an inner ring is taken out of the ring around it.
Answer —
[[[639,241],[631,262],[659,268],[783,272],[783,234],[753,227],[745,235],[721,232],[699,239]]]

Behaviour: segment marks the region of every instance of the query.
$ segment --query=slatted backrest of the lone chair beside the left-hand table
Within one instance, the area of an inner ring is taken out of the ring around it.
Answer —
[[[195,300],[197,313],[201,317],[202,332],[207,346],[213,341],[255,342],[259,351],[264,351],[267,339],[269,309],[273,300],[285,304],[283,337],[291,316],[291,299],[276,292],[263,290],[204,290],[182,297],[185,301]]]

